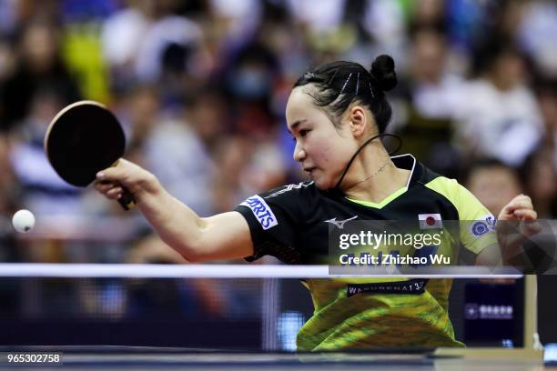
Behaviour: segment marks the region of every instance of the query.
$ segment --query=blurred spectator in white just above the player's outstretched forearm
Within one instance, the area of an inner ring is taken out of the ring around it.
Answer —
[[[192,95],[178,115],[157,118],[143,146],[146,163],[161,182],[201,215],[215,212],[210,150],[227,133],[226,107],[216,92]]]

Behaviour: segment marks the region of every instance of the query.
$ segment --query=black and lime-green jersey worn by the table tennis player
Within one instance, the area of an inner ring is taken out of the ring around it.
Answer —
[[[487,228],[461,228],[459,238],[441,248],[451,254],[460,244],[478,254],[495,243],[493,216],[463,186],[433,173],[412,155],[392,161],[410,170],[410,179],[380,204],[319,190],[310,181],[249,197],[236,208],[248,221],[255,248],[248,261],[271,255],[288,264],[322,262],[329,254],[329,224],[349,220],[478,221]],[[448,316],[449,279],[308,279],[304,284],[315,311],[299,331],[299,350],[462,346]]]

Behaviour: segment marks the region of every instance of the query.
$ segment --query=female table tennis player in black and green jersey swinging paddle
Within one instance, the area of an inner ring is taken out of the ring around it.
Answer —
[[[294,158],[311,180],[251,196],[234,211],[199,217],[154,175],[126,160],[100,172],[96,189],[117,199],[126,186],[158,236],[191,262],[273,255],[288,264],[310,264],[327,254],[331,222],[418,222],[429,215],[433,223],[472,220],[487,226],[463,228],[460,237],[478,263],[490,264],[486,246],[496,238],[490,212],[455,180],[433,173],[412,155],[390,157],[379,140],[391,116],[385,92],[396,84],[388,55],[377,57],[369,71],[333,62],[302,75],[286,116],[296,141]],[[499,220],[536,217],[531,199],[521,195],[503,208]],[[299,330],[298,349],[462,346],[448,316],[450,280],[387,281],[365,280],[365,293],[350,295],[349,280],[307,280],[315,312]]]

